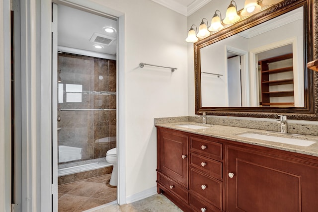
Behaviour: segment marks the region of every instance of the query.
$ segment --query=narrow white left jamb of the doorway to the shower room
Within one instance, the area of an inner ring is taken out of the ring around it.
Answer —
[[[52,212],[58,211],[58,5],[52,3]]]

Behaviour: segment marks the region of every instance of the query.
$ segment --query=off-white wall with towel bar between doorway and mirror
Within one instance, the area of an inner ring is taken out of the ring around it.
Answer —
[[[125,13],[126,196],[155,187],[155,117],[188,115],[187,19],[150,0],[92,0]],[[171,66],[178,70],[139,63]],[[119,78],[119,80],[121,80]]]

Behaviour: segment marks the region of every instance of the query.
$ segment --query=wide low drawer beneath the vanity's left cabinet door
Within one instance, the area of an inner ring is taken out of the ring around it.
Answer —
[[[161,174],[159,174],[159,183],[168,189],[172,194],[176,195],[184,202],[189,203],[189,193],[187,189],[183,188],[179,184],[176,184],[171,179]]]

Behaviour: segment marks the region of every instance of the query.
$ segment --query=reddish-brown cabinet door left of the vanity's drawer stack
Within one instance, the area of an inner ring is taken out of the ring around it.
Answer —
[[[168,132],[159,137],[160,172],[188,188],[188,137]]]

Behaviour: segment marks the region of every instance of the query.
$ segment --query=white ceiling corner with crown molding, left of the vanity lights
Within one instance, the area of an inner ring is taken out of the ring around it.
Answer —
[[[211,0],[152,0],[182,15],[189,16]]]

